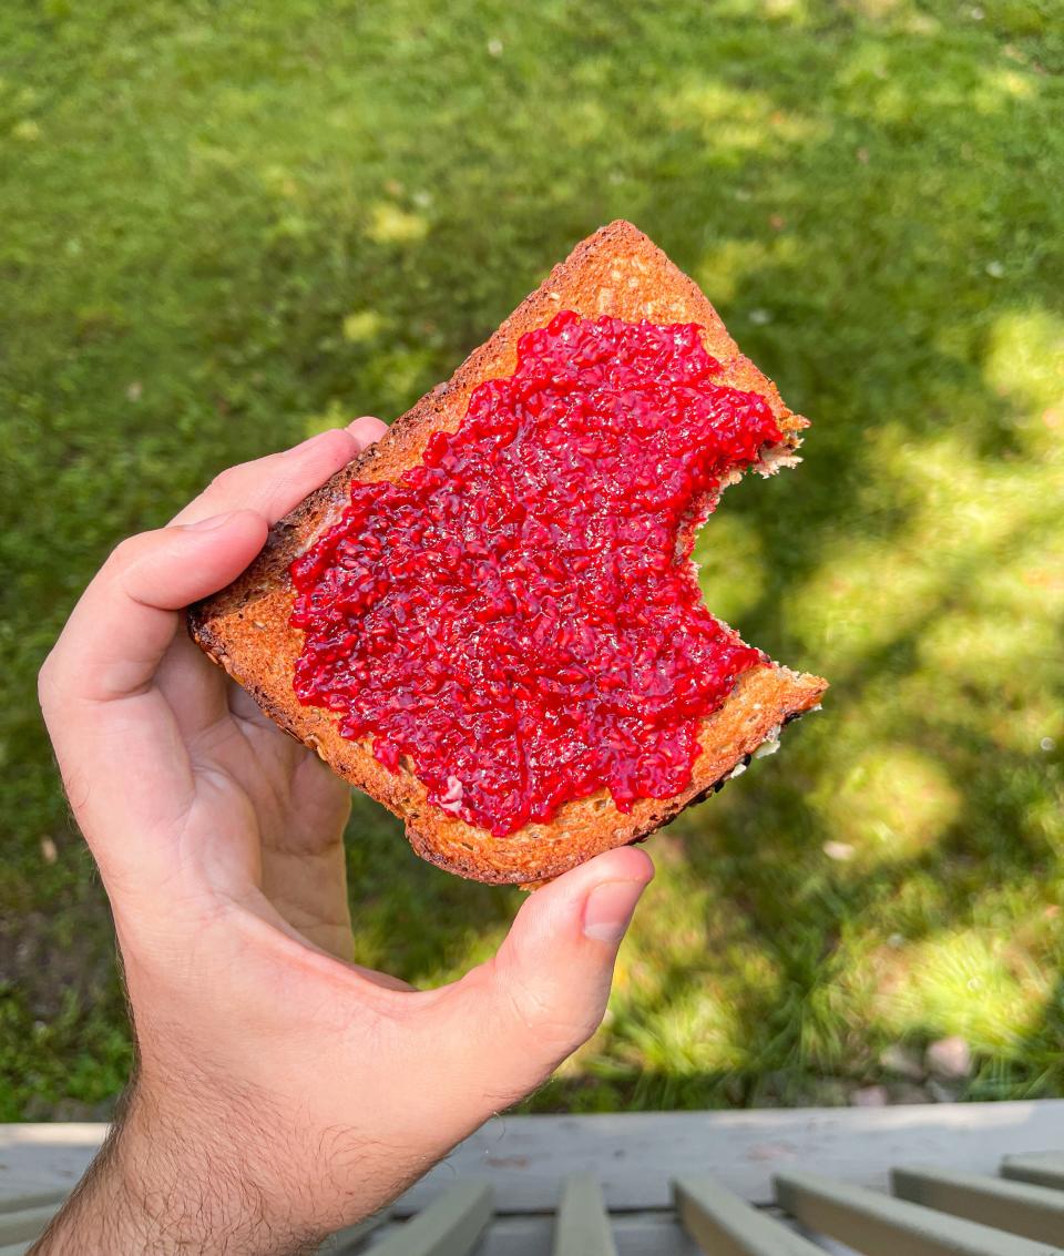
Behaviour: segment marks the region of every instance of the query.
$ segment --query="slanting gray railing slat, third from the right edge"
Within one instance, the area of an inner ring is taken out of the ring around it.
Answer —
[[[1061,1256],[1059,1247],[834,1182],[819,1173],[775,1179],[781,1208],[804,1226],[857,1247],[867,1256]]]

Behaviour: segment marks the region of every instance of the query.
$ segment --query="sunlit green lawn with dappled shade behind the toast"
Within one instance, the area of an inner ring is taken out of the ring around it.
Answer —
[[[4,5],[0,1119],[129,1064],[34,703],[79,588],[220,467],[399,413],[616,216],[815,421],[700,553],[833,690],[654,839],[534,1107],[818,1102],[952,1032],[967,1096],[1064,1094],[1061,70],[1055,0]],[[349,858],[416,982],[519,901],[364,800]]]

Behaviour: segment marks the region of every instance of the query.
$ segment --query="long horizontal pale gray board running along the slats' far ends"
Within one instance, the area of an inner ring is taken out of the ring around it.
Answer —
[[[69,1191],[106,1129],[0,1125],[0,1198],[25,1191]],[[611,1212],[668,1208],[670,1183],[685,1173],[708,1173],[742,1198],[768,1205],[776,1171],[813,1166],[886,1189],[891,1164],[947,1164],[957,1172],[992,1174],[1002,1157],[1059,1150],[1061,1130],[1061,1099],[500,1117],[462,1143],[397,1207],[410,1216],[455,1181],[475,1177],[495,1187],[500,1212],[549,1212],[562,1178],[579,1172],[598,1174]]]

